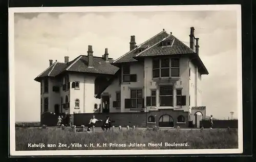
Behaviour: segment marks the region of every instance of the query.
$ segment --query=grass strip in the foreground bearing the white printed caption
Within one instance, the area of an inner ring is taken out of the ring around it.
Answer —
[[[235,149],[238,131],[129,130],[74,133],[60,128],[15,128],[16,151],[125,149]],[[135,144],[136,143],[136,144]],[[165,146],[168,143],[169,146]],[[35,147],[37,146],[39,147]],[[44,144],[45,147],[40,148]],[[61,144],[61,145],[59,145]],[[98,144],[98,145],[97,145]],[[105,145],[104,145],[105,144]],[[132,144],[132,145],[131,145]],[[154,146],[158,144],[158,146]],[[62,147],[59,147],[62,146]]]

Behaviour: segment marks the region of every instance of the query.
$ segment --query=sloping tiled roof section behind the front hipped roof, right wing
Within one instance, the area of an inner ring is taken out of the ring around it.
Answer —
[[[166,31],[162,31],[162,32],[158,33],[157,35],[155,35],[154,37],[152,37],[152,38],[148,39],[147,41],[143,42],[141,45],[139,45],[134,50],[129,51],[126,54],[124,54],[123,56],[119,57],[113,63],[137,61],[136,59],[133,58],[136,55],[138,55],[137,49],[139,49],[140,47],[143,47],[143,48],[144,47],[149,47],[150,48],[152,45],[155,45],[156,43],[162,41],[167,36],[168,36],[168,34],[166,33]]]

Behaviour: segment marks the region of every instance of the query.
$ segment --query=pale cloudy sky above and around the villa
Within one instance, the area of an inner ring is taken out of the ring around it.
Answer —
[[[165,29],[189,46],[190,27],[199,37],[199,55],[209,75],[202,76],[206,115],[237,118],[237,16],[234,11],[15,13],[15,121],[40,121],[40,83],[49,59],[64,62],[109,49],[117,59],[130,50],[130,36],[140,44]]]

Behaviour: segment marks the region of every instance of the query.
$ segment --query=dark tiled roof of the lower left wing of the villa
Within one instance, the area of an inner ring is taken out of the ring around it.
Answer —
[[[88,56],[80,55],[68,63],[54,62],[35,80],[38,81],[41,77],[55,77],[65,71],[114,75],[119,68],[112,65],[112,62],[112,58],[106,62],[102,57],[93,57],[93,67],[88,67]]]

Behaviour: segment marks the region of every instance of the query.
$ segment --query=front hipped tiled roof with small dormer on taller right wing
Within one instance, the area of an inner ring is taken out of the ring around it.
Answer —
[[[173,35],[169,35],[163,41],[170,41],[171,45],[162,46],[162,41],[152,47],[142,51],[136,57],[146,57],[146,56],[161,56],[161,55],[177,55],[177,54],[191,54],[195,53],[187,45],[181,42]]]

